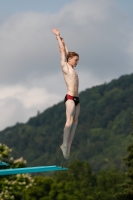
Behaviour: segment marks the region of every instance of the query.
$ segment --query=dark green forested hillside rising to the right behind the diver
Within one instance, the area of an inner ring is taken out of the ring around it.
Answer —
[[[26,124],[0,132],[0,141],[24,157],[29,166],[67,165],[75,159],[88,161],[93,171],[122,168],[121,157],[130,143],[133,112],[133,74],[80,93],[81,113],[72,144],[70,159],[65,161],[59,146],[65,124],[63,102],[32,117]]]

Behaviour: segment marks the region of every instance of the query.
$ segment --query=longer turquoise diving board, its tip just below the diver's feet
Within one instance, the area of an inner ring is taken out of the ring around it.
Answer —
[[[68,170],[68,168],[53,165],[53,166],[25,167],[25,168],[15,168],[15,169],[1,169],[0,176],[12,175],[12,174],[52,172],[52,171],[62,171],[62,170]]]

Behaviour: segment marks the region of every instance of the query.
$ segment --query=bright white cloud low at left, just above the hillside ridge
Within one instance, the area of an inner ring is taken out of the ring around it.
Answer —
[[[59,95],[50,94],[41,87],[0,87],[0,130],[16,122],[26,122],[31,116],[36,115],[37,111],[42,112],[61,100]]]

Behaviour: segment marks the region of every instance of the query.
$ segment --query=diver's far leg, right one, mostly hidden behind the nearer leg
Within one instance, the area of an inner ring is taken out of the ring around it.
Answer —
[[[74,113],[74,119],[73,119],[73,123],[71,126],[71,132],[70,132],[70,137],[69,137],[69,149],[68,149],[68,157],[70,154],[70,149],[71,149],[71,144],[75,135],[75,131],[77,128],[77,124],[78,124],[78,116],[80,113],[80,103],[75,107],[75,113]]]

